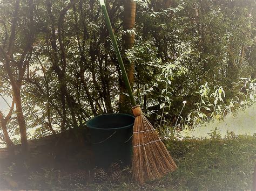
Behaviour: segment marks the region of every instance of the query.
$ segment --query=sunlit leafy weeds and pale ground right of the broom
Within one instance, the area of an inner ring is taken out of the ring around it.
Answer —
[[[224,137],[228,131],[237,135],[253,135],[256,132],[256,79],[240,77],[233,85],[235,96],[226,98],[223,87],[211,88],[206,82],[199,87],[198,102],[193,103],[195,109],[191,110],[190,114],[181,117],[187,104],[187,101],[183,101],[176,123],[173,125],[164,121],[165,123],[162,123],[164,125],[159,126],[157,130],[162,137],[174,136],[180,139],[184,136],[209,137],[207,133],[215,130],[221,137]]]

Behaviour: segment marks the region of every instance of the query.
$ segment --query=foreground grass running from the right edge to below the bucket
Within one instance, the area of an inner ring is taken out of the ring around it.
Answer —
[[[244,190],[252,189],[256,136],[229,135],[224,139],[165,140],[178,170],[145,185],[132,183],[124,171],[122,181],[84,185],[66,185],[66,180],[54,169],[33,172],[30,189],[57,190]],[[35,175],[36,174],[36,175]],[[71,177],[72,179],[72,177]],[[24,181],[24,180],[23,180]],[[42,185],[44,185],[42,187]]]

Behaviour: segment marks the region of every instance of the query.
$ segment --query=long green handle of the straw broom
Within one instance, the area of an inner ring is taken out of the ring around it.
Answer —
[[[113,29],[112,29],[110,19],[109,19],[109,14],[107,14],[106,5],[104,3],[104,0],[99,0],[99,3],[100,3],[100,6],[102,7],[103,15],[104,15],[105,20],[106,20],[106,25],[107,25],[107,28],[109,29],[110,38],[113,42],[114,49],[115,49],[116,54],[117,54],[117,59],[118,59],[118,63],[120,65],[120,68],[122,70],[122,76],[123,76],[123,79],[124,79],[125,86],[128,90],[128,93],[129,93],[129,96],[131,98],[131,102],[132,102],[133,106],[136,106],[137,104],[136,104],[135,98],[134,98],[133,93],[132,93],[131,84],[130,84],[128,76],[126,74],[126,70],[125,70],[125,67],[124,67],[124,62],[122,60],[122,56],[120,54],[120,51],[119,51],[119,48],[118,48],[118,45],[117,45],[117,40],[116,40],[116,37],[114,37]]]

